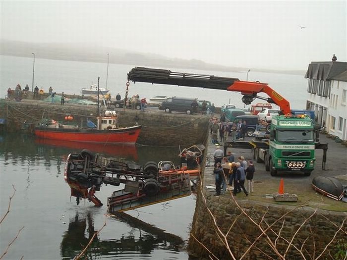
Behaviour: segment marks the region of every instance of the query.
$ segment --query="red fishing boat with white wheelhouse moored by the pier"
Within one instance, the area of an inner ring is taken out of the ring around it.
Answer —
[[[57,120],[43,119],[35,127],[35,135],[39,138],[59,141],[133,145],[136,143],[141,130],[141,125],[119,127],[118,114],[112,110],[106,110],[104,115],[97,116],[97,125],[87,118],[88,127],[64,124]]]

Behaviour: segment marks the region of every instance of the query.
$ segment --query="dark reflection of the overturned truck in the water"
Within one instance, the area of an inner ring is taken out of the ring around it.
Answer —
[[[132,229],[127,235],[122,234],[113,240],[101,240],[95,237],[87,250],[86,259],[95,259],[96,256],[150,255],[154,249],[161,248],[178,252],[184,246],[184,241],[173,234],[147,224],[125,213],[114,216],[117,220],[126,223]],[[70,220],[67,231],[63,234],[60,244],[62,258],[73,259],[88,244],[94,235],[94,221],[91,212],[79,213]],[[117,236],[119,232],[115,232]]]

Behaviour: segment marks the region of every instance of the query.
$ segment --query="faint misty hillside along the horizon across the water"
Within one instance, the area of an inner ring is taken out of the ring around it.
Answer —
[[[223,66],[218,64],[206,63],[198,59],[169,58],[166,56],[153,54],[130,52],[123,49],[109,48],[102,46],[87,46],[85,44],[66,44],[66,43],[27,43],[0,39],[0,54],[32,57],[35,52],[37,58],[89,61],[107,63],[107,53],[110,55],[110,63],[116,64],[136,64],[145,67],[163,68],[190,68],[198,70],[215,71],[247,71],[248,68]],[[256,69],[253,71],[279,72],[289,74],[304,74],[305,71],[278,71],[270,69]]]

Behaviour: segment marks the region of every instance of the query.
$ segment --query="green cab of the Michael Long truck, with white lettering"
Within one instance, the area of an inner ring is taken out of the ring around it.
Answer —
[[[270,126],[266,170],[300,171],[309,176],[315,163],[314,123],[308,115],[274,115]]]

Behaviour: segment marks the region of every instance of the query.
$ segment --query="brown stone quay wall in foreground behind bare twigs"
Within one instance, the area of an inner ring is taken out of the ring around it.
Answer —
[[[347,212],[315,210],[234,201],[231,195],[217,197],[203,189],[197,196],[188,250],[198,259],[210,259],[212,254],[221,260],[232,259],[232,252],[238,260],[250,249],[242,259],[281,259],[279,255],[286,255],[286,259],[301,260],[318,257],[329,245],[322,259],[340,259],[334,255],[339,253],[339,247],[347,247]],[[217,227],[225,235],[230,252]],[[334,242],[329,244],[332,239]]]

